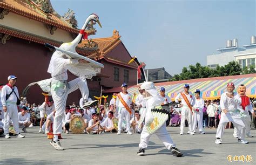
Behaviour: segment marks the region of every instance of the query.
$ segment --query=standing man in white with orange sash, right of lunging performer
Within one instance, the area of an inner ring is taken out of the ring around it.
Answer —
[[[183,135],[183,130],[185,127],[185,119],[187,119],[188,122],[188,134],[193,135],[192,132],[192,107],[195,104],[196,99],[194,98],[194,95],[189,92],[190,86],[188,84],[184,85],[184,92],[181,92],[177,95],[175,98],[175,102],[179,102],[179,99],[181,99],[181,122],[180,122],[180,135]]]

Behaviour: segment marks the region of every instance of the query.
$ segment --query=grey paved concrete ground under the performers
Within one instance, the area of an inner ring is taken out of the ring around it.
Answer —
[[[256,138],[247,138],[249,145],[237,143],[233,129],[225,130],[223,145],[214,143],[216,129],[206,129],[205,135],[179,135],[177,127],[167,130],[184,157],[173,156],[156,135],[151,137],[146,155],[137,156],[139,134],[63,134],[65,150],[58,151],[36,127],[28,128],[24,139],[0,138],[0,164],[226,164],[228,155],[251,155],[251,162],[232,163],[255,164]]]

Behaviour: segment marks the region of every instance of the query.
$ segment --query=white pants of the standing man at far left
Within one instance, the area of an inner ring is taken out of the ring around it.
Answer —
[[[4,112],[4,133],[9,133],[10,121],[12,120],[16,134],[19,134],[18,109],[16,104],[7,104],[7,112]]]

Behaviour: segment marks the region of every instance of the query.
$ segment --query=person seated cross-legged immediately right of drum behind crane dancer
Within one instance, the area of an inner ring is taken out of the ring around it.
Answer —
[[[98,115],[96,113],[92,114],[92,119],[89,121],[89,125],[86,128],[87,134],[101,134],[104,128],[99,124]]]

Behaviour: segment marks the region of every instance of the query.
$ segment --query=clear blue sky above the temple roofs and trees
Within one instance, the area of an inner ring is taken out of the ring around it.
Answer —
[[[76,13],[81,28],[90,13],[97,13],[103,28],[91,38],[110,37],[119,31],[131,56],[145,61],[146,68],[165,67],[171,75],[184,66],[199,62],[225,47],[227,39],[238,45],[250,44],[256,35],[255,1],[82,1],[52,0],[53,8],[64,15]]]

